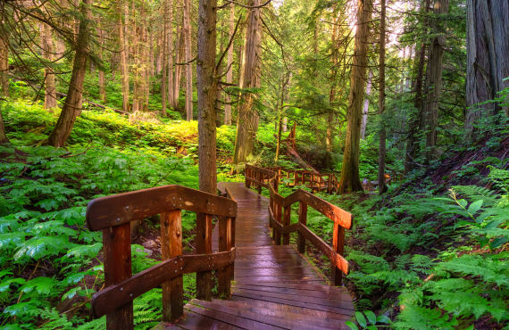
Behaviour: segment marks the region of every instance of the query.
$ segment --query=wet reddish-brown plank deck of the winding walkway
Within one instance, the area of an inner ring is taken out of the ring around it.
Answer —
[[[190,301],[185,316],[166,328],[338,329],[354,315],[343,287],[325,284],[290,245],[275,245],[267,226],[269,201],[242,183],[228,186],[238,202],[235,282],[228,301]],[[217,251],[217,228],[213,250]]]

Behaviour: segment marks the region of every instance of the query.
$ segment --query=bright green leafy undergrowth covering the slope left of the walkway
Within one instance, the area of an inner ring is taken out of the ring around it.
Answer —
[[[4,110],[12,144],[0,146],[0,327],[104,328],[104,318],[90,315],[104,268],[102,235],[85,226],[86,205],[154,186],[197,188],[196,122],[131,123],[110,112],[84,112],[63,150],[38,145],[56,114],[28,103]],[[230,128],[223,129],[228,150]],[[189,155],[173,145],[185,145]],[[219,179],[235,177],[220,173]],[[183,212],[183,237],[191,246],[195,218]],[[133,274],[159,262],[157,224],[156,217],[146,219],[134,233]],[[184,276],[187,300],[195,286],[194,275]],[[161,303],[160,289],[138,297],[135,325],[154,326]]]

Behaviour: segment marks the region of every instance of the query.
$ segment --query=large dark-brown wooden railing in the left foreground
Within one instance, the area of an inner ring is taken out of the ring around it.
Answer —
[[[181,210],[196,212],[196,253],[182,255]],[[131,271],[130,222],[160,214],[160,264],[134,276]],[[218,216],[219,252],[212,252],[212,219]],[[182,274],[196,272],[196,296],[212,299],[212,270],[218,292],[228,298],[235,260],[237,202],[185,186],[161,186],[101,197],[88,203],[90,230],[103,231],[104,290],[94,294],[95,317],[106,315],[108,329],[133,327],[132,301],[163,286],[163,320],[183,314]]]

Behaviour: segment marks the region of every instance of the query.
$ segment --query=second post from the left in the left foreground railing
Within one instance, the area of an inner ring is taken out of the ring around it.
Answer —
[[[161,213],[161,259],[182,255],[182,217],[180,210]],[[163,321],[171,322],[184,314],[183,277],[163,283]]]

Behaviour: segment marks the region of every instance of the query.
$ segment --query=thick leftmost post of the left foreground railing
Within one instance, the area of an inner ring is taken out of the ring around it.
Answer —
[[[116,285],[131,274],[130,223],[103,229],[104,285]],[[132,301],[106,315],[106,329],[132,329]]]

